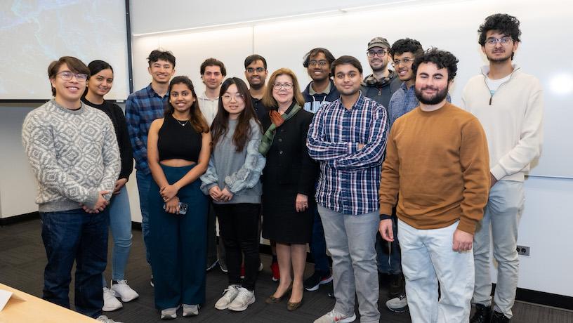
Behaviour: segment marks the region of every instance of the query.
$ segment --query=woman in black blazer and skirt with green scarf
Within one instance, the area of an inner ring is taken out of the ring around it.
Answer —
[[[306,148],[312,114],[302,109],[303,96],[296,75],[282,68],[272,73],[263,104],[265,135],[259,151],[266,155],[263,169],[263,237],[277,243],[280,283],[267,303],[278,303],[292,288],[288,310],[303,300],[306,244],[312,235],[314,185],[318,164]],[[291,275],[291,268],[294,275]]]

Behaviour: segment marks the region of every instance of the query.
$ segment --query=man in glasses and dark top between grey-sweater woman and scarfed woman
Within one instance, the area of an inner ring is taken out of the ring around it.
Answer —
[[[267,115],[263,105],[263,95],[265,93],[265,81],[268,76],[267,60],[261,55],[253,54],[245,58],[245,78],[249,82],[249,93],[253,108],[260,120]]]

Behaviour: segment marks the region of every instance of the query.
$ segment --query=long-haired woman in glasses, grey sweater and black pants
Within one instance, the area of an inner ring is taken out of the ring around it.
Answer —
[[[201,176],[201,189],[213,199],[229,270],[228,289],[215,308],[242,311],[255,301],[260,263],[258,223],[262,192],[259,177],[265,166],[265,157],[258,152],[261,124],[242,79],[232,77],[223,82],[211,133],[211,159]],[[242,281],[243,254],[245,278]]]

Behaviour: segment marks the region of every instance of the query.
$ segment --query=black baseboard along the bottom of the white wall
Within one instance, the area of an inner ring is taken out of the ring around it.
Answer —
[[[39,217],[40,215],[38,212],[30,212],[30,213],[20,214],[19,216],[0,218],[0,226],[11,225],[14,223],[24,222],[27,220],[35,220]],[[131,221],[131,228],[135,230],[141,230],[141,223]],[[270,246],[266,244],[261,244],[260,251],[261,253],[265,253],[268,255],[271,254]],[[310,256],[310,253],[307,253],[306,258],[309,263],[312,263],[312,257]],[[492,288],[492,295],[494,291],[495,291],[495,284]],[[546,293],[544,291],[534,291],[532,289],[518,288],[517,294],[515,295],[515,300],[540,304],[540,305],[553,306],[554,308],[564,308],[566,310],[573,310],[573,297]]]

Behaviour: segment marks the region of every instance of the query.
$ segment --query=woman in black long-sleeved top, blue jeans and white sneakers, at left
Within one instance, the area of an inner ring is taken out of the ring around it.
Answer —
[[[105,276],[102,275],[102,310],[109,312],[123,306],[116,297],[121,298],[121,301],[124,302],[129,302],[139,297],[139,294],[127,284],[124,276],[132,237],[131,210],[129,209],[129,196],[125,185],[127,180],[129,180],[131,171],[133,171],[133,154],[131,152],[131,143],[129,143],[129,133],[127,132],[124,112],[121,110],[121,107],[103,98],[113,86],[114,73],[112,66],[103,60],[94,60],[88,64],[88,69],[91,76],[88,79],[86,93],[81,100],[86,105],[102,110],[112,119],[121,157],[119,178],[115,182],[110,205],[104,211],[110,217],[110,228],[114,240],[111,288],[107,288]]]

